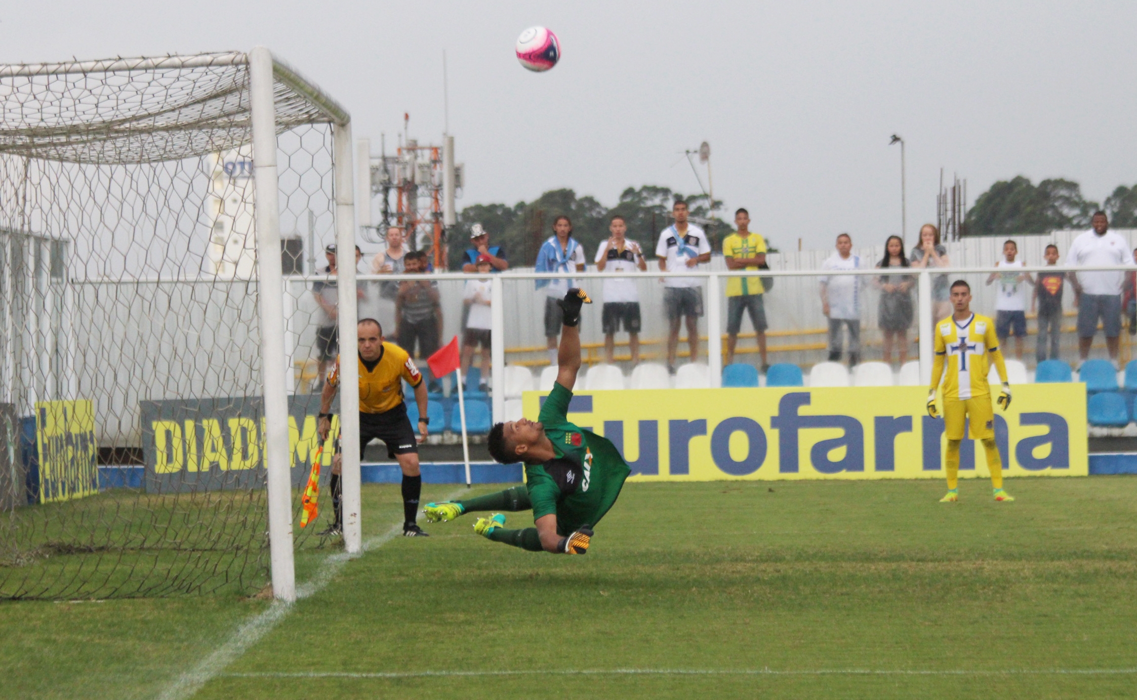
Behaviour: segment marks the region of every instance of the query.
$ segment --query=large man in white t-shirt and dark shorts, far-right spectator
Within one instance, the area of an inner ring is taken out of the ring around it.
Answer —
[[[1094,228],[1079,235],[1067,251],[1065,264],[1070,267],[1095,265],[1132,265],[1129,242],[1110,231],[1110,219],[1104,211],[1093,218]],[[1078,355],[1085,361],[1089,357],[1089,345],[1097,332],[1097,319],[1105,326],[1105,347],[1110,359],[1117,364],[1119,338],[1121,336],[1121,285],[1124,270],[1096,270],[1070,273],[1073,285],[1073,303],[1078,307]]]

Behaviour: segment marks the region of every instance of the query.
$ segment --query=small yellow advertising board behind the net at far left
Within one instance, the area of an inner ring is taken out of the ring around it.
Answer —
[[[99,492],[94,407],[90,401],[38,401],[35,444],[41,503]]]

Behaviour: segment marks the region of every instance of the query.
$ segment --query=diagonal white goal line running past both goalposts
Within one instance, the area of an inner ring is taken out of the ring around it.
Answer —
[[[443,500],[450,500],[465,492],[466,486],[463,486],[462,489],[448,494]],[[362,548],[363,551],[358,555],[349,555],[347,552],[329,555],[327,558],[324,559],[323,566],[321,566],[319,570],[316,572],[316,575],[313,576],[310,581],[297,586],[297,600],[315,595],[329,583],[331,583],[333,578],[335,578],[337,574],[340,573],[348,561],[387,544],[400,532],[402,532],[401,523],[383,534],[365,540]],[[284,619],[291,610],[292,603],[273,601],[273,603],[268,606],[267,610],[254,616],[252,619],[238,627],[236,631],[233,632],[232,636],[225,641],[225,643],[215,649],[209,656],[202,659],[200,664],[179,676],[176,681],[166,688],[166,690],[161,691],[158,695],[158,700],[188,700],[193,697],[194,693],[201,690],[202,685],[208,683],[211,678],[222,675],[222,672],[224,672],[230,664],[243,656],[249,647],[256,644],[260,638],[267,634],[277,625],[277,623]]]

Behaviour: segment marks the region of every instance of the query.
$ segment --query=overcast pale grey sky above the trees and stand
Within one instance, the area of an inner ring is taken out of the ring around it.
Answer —
[[[564,57],[521,68],[517,34]],[[695,192],[683,149],[713,149],[715,195],[790,247],[935,220],[939,168],[969,182],[1069,177],[1104,199],[1137,182],[1135,2],[340,2],[40,0],[0,10],[0,61],[269,47],[352,115],[356,135],[438,141],[442,50],[459,207],[573,188]]]

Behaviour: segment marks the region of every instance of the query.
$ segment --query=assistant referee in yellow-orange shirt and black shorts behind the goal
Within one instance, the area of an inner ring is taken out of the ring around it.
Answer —
[[[383,341],[383,328],[374,318],[364,318],[356,326],[359,332],[359,458],[364,448],[379,438],[387,443],[387,456],[399,463],[402,469],[402,535],[425,538],[426,533],[415,524],[418,497],[423,480],[418,473],[418,443],[426,440],[426,385],[414,360],[402,348]],[[341,356],[342,357],[342,356]],[[407,407],[402,402],[402,380],[415,389],[418,403],[418,435],[410,427]],[[319,439],[327,440],[332,427],[332,399],[340,386],[340,360],[327,375],[324,392],[319,397]],[[339,447],[337,444],[337,447]],[[343,511],[340,506],[340,460],[332,465],[332,507],[335,523],[329,534],[339,534],[343,528]]]

